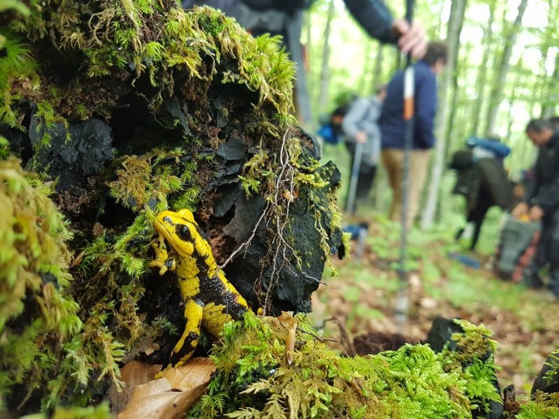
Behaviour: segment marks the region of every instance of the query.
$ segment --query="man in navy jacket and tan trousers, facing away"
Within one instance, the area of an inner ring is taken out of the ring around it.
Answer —
[[[414,131],[410,156],[409,208],[407,226],[411,227],[419,212],[419,199],[427,177],[430,149],[435,144],[437,110],[436,76],[447,64],[447,44],[431,42],[423,59],[414,64]],[[392,189],[389,217],[400,221],[402,213],[402,179],[407,122],[404,120],[404,71],[395,73],[386,90],[380,127],[382,163]]]

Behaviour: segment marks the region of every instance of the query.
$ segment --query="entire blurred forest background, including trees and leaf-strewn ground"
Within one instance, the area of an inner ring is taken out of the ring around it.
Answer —
[[[405,14],[405,2],[389,1],[395,16]],[[524,130],[533,117],[557,115],[559,96],[559,1],[416,1],[415,19],[430,39],[447,41],[449,63],[438,76],[439,103],[430,179],[423,191],[421,218],[409,237],[408,323],[394,321],[400,236],[386,219],[390,191],[379,165],[369,205],[344,222],[368,221],[363,258],[336,262],[337,277],[325,272],[328,286],[314,301],[315,324],[335,316],[350,335],[403,331],[423,339],[435,316],[459,316],[484,323],[499,342],[496,362],[502,386],[514,383],[529,394],[542,362],[558,344],[558,304],[549,293],[529,291],[500,281],[491,270],[503,212],[492,207],[481,230],[477,251],[481,269],[449,258],[467,253],[469,243],[453,235],[465,224],[465,200],[451,194],[456,174],[449,170],[451,154],[465,148],[470,135],[498,135],[512,152],[504,164],[510,175],[528,169],[535,147]],[[314,110],[328,115],[351,94],[368,96],[389,82],[405,65],[392,45],[370,38],[349,15],[341,0],[317,0],[305,15],[302,43],[308,57],[308,84]],[[343,144],[323,147],[323,161],[333,160],[342,172],[340,204],[349,183],[349,154]],[[392,261],[392,262],[391,262]],[[334,337],[337,326],[326,327]],[[361,339],[363,340],[363,339]]]

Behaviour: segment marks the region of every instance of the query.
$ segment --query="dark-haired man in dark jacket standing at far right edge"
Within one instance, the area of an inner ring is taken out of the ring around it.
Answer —
[[[542,221],[542,235],[527,285],[542,287],[539,271],[549,263],[548,288],[559,298],[559,130],[549,120],[532,119],[525,132],[538,148],[538,156],[534,178],[512,215]]]

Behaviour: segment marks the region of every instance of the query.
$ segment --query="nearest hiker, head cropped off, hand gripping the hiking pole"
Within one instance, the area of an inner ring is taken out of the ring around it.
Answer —
[[[313,115],[307,92],[305,50],[300,43],[303,11],[313,0],[184,0],[182,6],[208,5],[235,17],[254,36],[269,33],[282,35],[284,45],[297,64],[294,80],[296,116],[303,126],[312,124]],[[394,19],[382,0],[344,0],[346,7],[365,31],[382,43],[393,43],[412,57],[420,59],[426,52],[425,29],[420,24]]]

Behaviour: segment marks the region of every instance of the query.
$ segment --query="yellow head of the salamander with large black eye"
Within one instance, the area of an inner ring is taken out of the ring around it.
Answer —
[[[200,228],[189,210],[161,212],[154,226],[179,256],[191,256],[196,242],[201,238]]]

